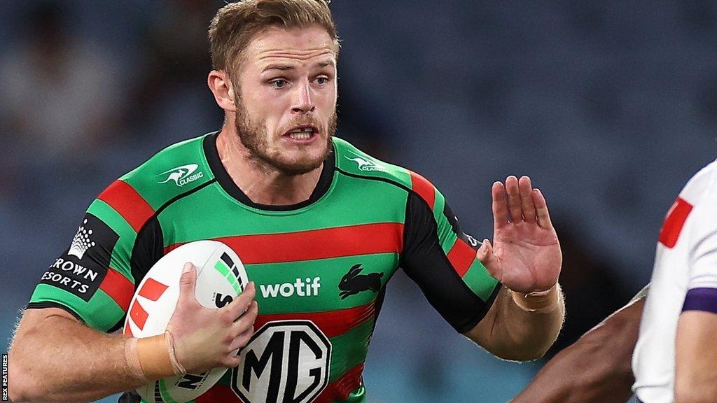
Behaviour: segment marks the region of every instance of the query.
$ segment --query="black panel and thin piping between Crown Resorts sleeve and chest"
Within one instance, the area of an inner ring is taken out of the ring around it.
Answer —
[[[175,201],[190,196],[216,181],[217,179],[206,181],[194,189],[174,196],[162,204],[161,207],[152,214],[152,217],[144,223],[137,233],[132,248],[132,256],[130,257],[130,270],[132,271],[132,278],[135,280],[135,290],[137,290],[139,283],[141,283],[149,269],[164,255],[164,237],[161,225],[159,224],[159,214]]]

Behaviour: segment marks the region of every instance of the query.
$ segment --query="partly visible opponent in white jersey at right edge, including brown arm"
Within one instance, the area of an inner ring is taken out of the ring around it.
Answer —
[[[631,384],[638,402],[717,401],[716,181],[717,161],[668,211],[650,296],[646,287],[561,351],[513,403],[625,402]]]

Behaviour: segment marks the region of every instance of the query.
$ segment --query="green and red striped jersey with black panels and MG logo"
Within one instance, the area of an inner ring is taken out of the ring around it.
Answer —
[[[364,402],[369,341],[399,267],[457,331],[485,316],[500,284],[422,176],[333,138],[307,201],[256,204],[227,174],[216,141],[210,133],[177,143],[110,184],[28,307],[117,331],[126,315],[143,314],[128,305],[160,257],[186,242],[224,242],[255,282],[260,312],[242,364],[198,403]]]

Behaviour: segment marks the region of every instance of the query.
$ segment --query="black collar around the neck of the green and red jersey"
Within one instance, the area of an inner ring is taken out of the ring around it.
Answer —
[[[331,186],[333,171],[336,167],[336,158],[334,157],[333,152],[329,153],[326,160],[323,161],[321,176],[319,176],[318,183],[307,200],[297,204],[289,204],[285,206],[255,203],[249,199],[246,194],[244,194],[242,189],[239,189],[239,186],[237,186],[237,184],[234,183],[234,180],[232,180],[232,177],[229,176],[227,169],[224,168],[224,164],[222,164],[222,160],[219,158],[219,151],[217,150],[218,134],[219,132],[212,133],[204,138],[204,155],[206,156],[206,161],[209,162],[209,169],[212,169],[214,178],[217,178],[217,182],[219,182],[219,185],[222,186],[222,189],[242,204],[246,204],[247,206],[255,209],[269,210],[272,212],[288,212],[290,210],[306,207],[314,201],[317,201],[321,198],[321,196],[326,194],[328,188]]]

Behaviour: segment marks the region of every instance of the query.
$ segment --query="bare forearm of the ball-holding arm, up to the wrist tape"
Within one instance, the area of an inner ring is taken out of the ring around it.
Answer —
[[[21,324],[22,326],[22,324]],[[135,389],[125,336],[107,335],[53,316],[16,335],[9,353],[9,392],[16,401],[90,402]]]

